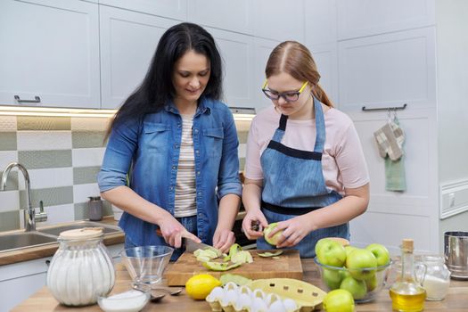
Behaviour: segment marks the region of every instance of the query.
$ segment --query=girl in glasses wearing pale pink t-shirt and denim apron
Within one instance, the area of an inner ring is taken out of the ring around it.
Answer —
[[[258,249],[269,249],[261,229],[277,222],[268,234],[282,233],[276,247],[312,258],[319,239],[349,239],[349,220],[365,212],[364,154],[352,120],[333,108],[318,85],[307,47],[294,41],[277,45],[265,71],[262,91],[274,105],[250,126],[242,228],[248,238],[258,239]]]

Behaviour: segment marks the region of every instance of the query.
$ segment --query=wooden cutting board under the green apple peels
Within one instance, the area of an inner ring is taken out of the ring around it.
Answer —
[[[276,250],[249,250],[252,255],[252,263],[244,263],[229,271],[211,271],[203,267],[193,253],[184,252],[177,261],[168,268],[165,277],[168,286],[185,286],[185,282],[196,274],[209,273],[217,278],[220,275],[230,273],[238,274],[250,279],[287,277],[302,280],[302,265],[298,250],[284,250],[279,259],[262,258],[258,253]]]

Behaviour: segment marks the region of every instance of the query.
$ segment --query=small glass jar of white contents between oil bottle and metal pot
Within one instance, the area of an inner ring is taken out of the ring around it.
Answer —
[[[441,256],[421,256],[421,262],[427,267],[423,288],[426,300],[444,300],[450,286],[450,271]]]

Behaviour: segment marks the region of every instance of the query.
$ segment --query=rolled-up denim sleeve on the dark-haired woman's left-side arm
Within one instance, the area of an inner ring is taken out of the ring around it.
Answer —
[[[138,129],[136,122],[120,123],[112,129],[103,166],[97,175],[101,192],[127,185],[127,172],[138,144]]]

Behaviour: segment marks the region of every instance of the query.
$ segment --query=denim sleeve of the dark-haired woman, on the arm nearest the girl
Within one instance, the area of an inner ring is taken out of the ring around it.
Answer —
[[[223,140],[223,153],[218,173],[218,198],[221,199],[229,193],[242,195],[242,185],[239,178],[239,139],[235,128],[234,117],[230,111],[225,115],[226,127]]]

